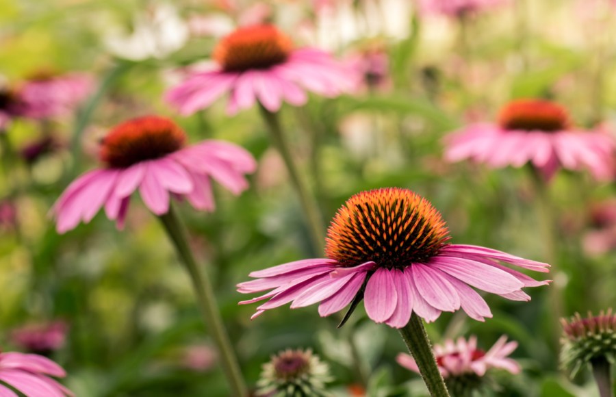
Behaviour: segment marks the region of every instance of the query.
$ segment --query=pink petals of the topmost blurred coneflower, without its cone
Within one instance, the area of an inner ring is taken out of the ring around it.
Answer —
[[[270,112],[277,112],[283,101],[304,105],[306,90],[324,97],[336,97],[352,90],[356,73],[318,49],[296,49],[287,60],[270,68],[249,71],[224,71],[214,64],[205,71],[189,73],[181,84],[169,90],[166,100],[185,116],[209,107],[229,94],[228,114],[248,109],[259,101]]]

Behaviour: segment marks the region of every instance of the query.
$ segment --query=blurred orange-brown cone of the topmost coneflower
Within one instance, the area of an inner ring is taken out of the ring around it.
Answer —
[[[264,69],[287,60],[291,39],[272,25],[241,27],[220,40],[214,59],[225,71]]]

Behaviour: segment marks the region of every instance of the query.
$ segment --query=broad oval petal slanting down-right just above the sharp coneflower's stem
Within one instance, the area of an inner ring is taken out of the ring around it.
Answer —
[[[411,266],[415,287],[426,302],[441,311],[456,311],[460,308],[458,293],[437,269],[424,264]]]

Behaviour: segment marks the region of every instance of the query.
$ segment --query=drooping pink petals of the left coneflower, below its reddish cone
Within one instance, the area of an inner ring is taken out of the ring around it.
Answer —
[[[90,222],[101,207],[107,218],[124,225],[130,196],[139,190],[154,214],[166,214],[170,196],[185,198],[196,209],[212,211],[211,179],[233,194],[248,188],[244,174],[257,167],[253,156],[240,146],[206,140],[158,159],[128,168],[99,168],[82,175],[62,193],[52,208],[58,233],[74,229],[80,221]]]

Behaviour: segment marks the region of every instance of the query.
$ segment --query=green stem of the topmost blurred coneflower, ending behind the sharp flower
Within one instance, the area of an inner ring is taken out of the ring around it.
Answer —
[[[289,177],[291,178],[293,187],[299,196],[301,205],[309,223],[308,227],[311,239],[313,240],[313,245],[318,247],[318,251],[320,251],[323,248],[324,242],[324,225],[319,207],[313,197],[309,194],[305,181],[300,177],[300,173],[298,172],[297,166],[293,160],[293,155],[289,144],[280,126],[278,115],[270,112],[261,104],[259,104],[259,109],[261,110],[261,115],[268,125],[272,140],[274,140],[274,144],[277,146],[278,151],[283,157],[283,161],[287,167],[287,172],[289,172]]]

